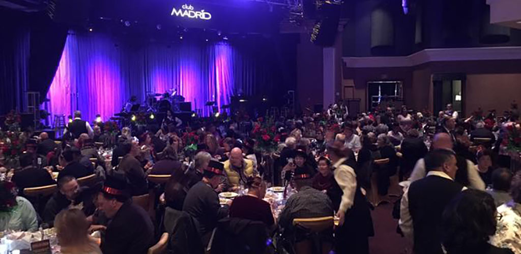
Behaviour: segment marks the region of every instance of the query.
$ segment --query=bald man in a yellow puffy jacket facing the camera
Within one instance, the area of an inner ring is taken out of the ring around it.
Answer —
[[[229,190],[237,190],[244,185],[247,177],[256,176],[258,172],[253,169],[253,161],[245,159],[242,150],[238,147],[231,149],[230,158],[224,162]]]

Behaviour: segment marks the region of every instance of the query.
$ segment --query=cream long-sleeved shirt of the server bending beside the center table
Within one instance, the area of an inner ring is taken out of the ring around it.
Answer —
[[[337,181],[343,192],[338,211],[344,213],[353,206],[356,192],[355,171],[353,168],[342,164],[345,160],[347,158],[342,158],[333,164],[334,180]]]

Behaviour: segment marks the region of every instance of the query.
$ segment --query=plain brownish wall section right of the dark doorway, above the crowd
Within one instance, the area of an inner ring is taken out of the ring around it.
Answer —
[[[465,99],[467,116],[478,107],[502,115],[513,100],[521,103],[521,73],[468,74]]]

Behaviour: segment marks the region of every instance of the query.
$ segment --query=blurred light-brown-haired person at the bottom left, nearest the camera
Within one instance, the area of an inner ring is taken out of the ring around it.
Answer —
[[[62,254],[102,253],[96,239],[89,235],[89,222],[81,210],[62,210],[56,215],[54,226]]]

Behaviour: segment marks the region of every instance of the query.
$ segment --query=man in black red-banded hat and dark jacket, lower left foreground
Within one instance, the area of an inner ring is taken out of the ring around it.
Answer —
[[[143,254],[154,245],[154,224],[143,208],[132,203],[124,176],[107,176],[97,196],[97,208],[109,219],[106,226],[92,226],[105,231],[103,253]]]

